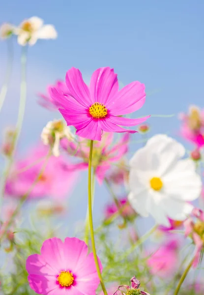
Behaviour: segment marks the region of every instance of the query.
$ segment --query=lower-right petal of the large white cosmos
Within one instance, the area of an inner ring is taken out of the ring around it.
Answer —
[[[174,199],[165,200],[164,206],[168,217],[174,220],[185,220],[193,209],[191,204]]]

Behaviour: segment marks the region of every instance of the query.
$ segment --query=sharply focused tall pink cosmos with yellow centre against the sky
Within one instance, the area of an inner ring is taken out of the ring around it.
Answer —
[[[110,67],[93,72],[90,87],[84,83],[81,72],[72,67],[66,73],[66,85],[72,96],[53,88],[52,98],[60,104],[59,111],[67,125],[73,125],[76,134],[83,138],[100,141],[103,131],[135,133],[118,125],[135,126],[149,118],[118,117],[143,106],[145,85],[132,82],[118,91],[117,74]]]

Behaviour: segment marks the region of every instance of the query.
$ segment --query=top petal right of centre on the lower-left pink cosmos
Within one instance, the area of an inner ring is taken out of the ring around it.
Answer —
[[[76,237],[66,237],[64,241],[64,260],[66,269],[70,269],[79,277],[78,267],[86,263],[88,247],[86,243]]]

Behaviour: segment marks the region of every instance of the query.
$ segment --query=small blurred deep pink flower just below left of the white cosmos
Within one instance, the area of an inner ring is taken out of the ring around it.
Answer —
[[[127,198],[122,198],[118,200],[119,203],[119,208],[124,207],[124,209],[122,209],[121,215],[124,218],[127,219],[132,219],[133,217],[136,216],[136,212],[135,210],[130,206]],[[105,219],[110,218],[113,214],[115,214],[118,211],[118,208],[116,206],[116,204],[113,202],[110,205],[107,205],[105,208]]]

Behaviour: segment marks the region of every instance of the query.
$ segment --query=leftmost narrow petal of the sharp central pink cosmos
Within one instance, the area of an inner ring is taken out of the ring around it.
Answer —
[[[66,97],[59,93],[56,88],[51,89],[51,97],[52,99],[58,103],[58,105],[62,106],[65,110],[69,112],[74,112],[75,114],[86,114],[87,109],[78,103],[76,99],[67,95]]]

